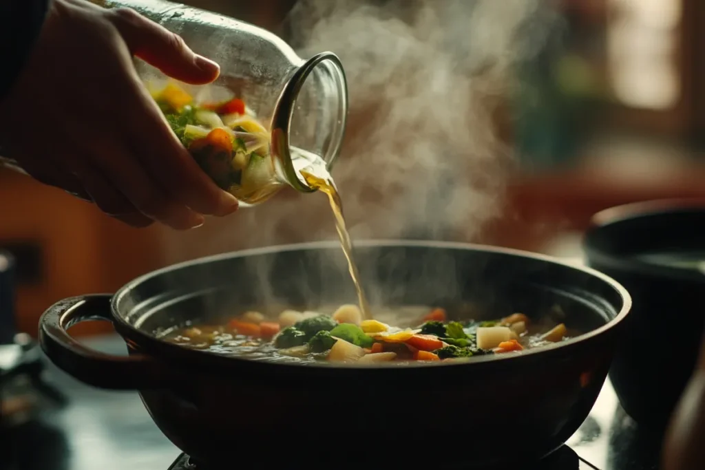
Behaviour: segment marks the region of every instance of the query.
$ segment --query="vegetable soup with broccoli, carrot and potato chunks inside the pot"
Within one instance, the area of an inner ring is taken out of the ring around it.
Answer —
[[[494,321],[458,322],[448,321],[445,310],[429,307],[418,316],[390,310],[376,318],[363,319],[359,307],[351,304],[332,314],[285,310],[277,319],[247,311],[235,319],[171,328],[159,337],[253,361],[403,365],[522,354],[580,334],[548,317],[532,321],[519,313]]]

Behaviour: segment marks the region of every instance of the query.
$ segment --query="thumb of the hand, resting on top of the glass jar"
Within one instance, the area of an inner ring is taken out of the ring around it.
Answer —
[[[169,77],[192,85],[204,85],[218,78],[217,63],[195,54],[179,35],[134,10],[112,10],[111,20],[131,54]]]

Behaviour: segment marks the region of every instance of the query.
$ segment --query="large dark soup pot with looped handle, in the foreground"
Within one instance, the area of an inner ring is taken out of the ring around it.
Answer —
[[[315,243],[199,259],[115,295],[66,299],[42,316],[42,347],[85,383],[140,390],[161,431],[213,466],[242,457],[268,468],[400,468],[419,452],[431,458],[430,443],[448,450],[438,462],[496,466],[544,457],[575,433],[630,309],[618,283],[544,256],[452,243],[361,242],[357,259],[372,304],[441,306],[455,319],[536,318],[558,305],[569,328],[587,333],[522,355],[374,368],[247,361],[155,337],[272,302],[315,309],[355,299],[338,244]],[[87,319],[112,321],[129,357],[71,339],[66,329]]]

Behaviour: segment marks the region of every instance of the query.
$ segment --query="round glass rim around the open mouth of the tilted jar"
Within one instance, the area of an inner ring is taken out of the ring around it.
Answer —
[[[333,80],[338,101],[337,109],[333,110],[331,116],[333,119],[331,132],[320,155],[326,162],[326,167],[329,170],[332,168],[341,151],[345,123],[348,118],[348,83],[345,79],[343,64],[336,54],[321,52],[295,69],[279,95],[271,118],[271,154],[281,165],[286,183],[300,192],[314,192],[315,190],[301,180],[293,164],[290,143],[291,122],[302,86],[313,71],[321,66],[326,67],[327,74]]]

